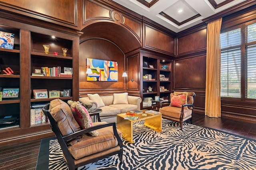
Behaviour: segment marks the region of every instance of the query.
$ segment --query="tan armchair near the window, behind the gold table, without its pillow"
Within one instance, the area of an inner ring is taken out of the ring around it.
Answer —
[[[187,104],[183,104],[180,106],[174,106],[171,104],[172,102],[172,95],[187,93]],[[159,109],[160,113],[162,113],[162,117],[176,121],[180,123],[180,129],[182,130],[183,122],[190,119],[190,123],[192,123],[192,113],[194,109],[194,100],[196,94],[194,92],[174,92],[171,94],[171,101],[170,102],[162,102],[161,108]],[[165,103],[170,103],[170,106],[164,106]]]

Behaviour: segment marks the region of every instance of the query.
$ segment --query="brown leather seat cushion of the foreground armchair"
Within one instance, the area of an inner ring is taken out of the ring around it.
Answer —
[[[93,126],[106,123],[95,122]],[[114,148],[118,145],[118,141],[114,136],[113,127],[104,127],[102,129],[97,129],[99,135],[97,137],[92,137],[91,135],[83,135],[81,141],[75,143],[74,145],[68,146],[68,150],[74,159],[80,159],[84,156],[89,156],[103,150]],[[118,135],[122,139],[122,133],[118,131]]]

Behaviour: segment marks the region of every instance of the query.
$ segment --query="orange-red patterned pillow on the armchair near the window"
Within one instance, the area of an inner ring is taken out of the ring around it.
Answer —
[[[188,104],[188,93],[171,94],[171,106],[182,107],[184,104]]]

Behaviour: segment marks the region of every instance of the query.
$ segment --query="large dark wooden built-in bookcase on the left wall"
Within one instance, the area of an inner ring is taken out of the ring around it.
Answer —
[[[8,23],[8,25],[6,25]],[[32,104],[47,104],[55,98],[35,99],[33,90],[70,89],[70,97],[61,100],[79,100],[78,82],[78,45],[79,35],[56,31],[16,21],[0,18],[0,31],[14,33],[14,49],[0,48],[0,87],[19,88],[19,98],[0,101],[0,117],[15,115],[18,122],[14,125],[0,127],[0,145],[11,145],[21,141],[30,141],[53,136],[49,123],[30,125],[30,107]],[[52,39],[52,35],[56,38]],[[49,53],[44,53],[43,44],[50,45]],[[67,48],[67,55],[62,55],[62,47]],[[58,52],[58,55],[54,55]],[[32,76],[35,69],[60,66],[73,68],[72,77]],[[10,67],[14,75],[4,75],[2,71]]]

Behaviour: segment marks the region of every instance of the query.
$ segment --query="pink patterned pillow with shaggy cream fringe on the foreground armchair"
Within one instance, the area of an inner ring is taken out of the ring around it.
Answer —
[[[80,125],[81,129],[92,127],[92,119],[90,114],[88,113],[87,109],[80,104],[80,102],[73,102],[72,100],[69,100],[68,104],[70,105],[73,116]],[[92,136],[99,135],[97,131],[91,131],[89,134]]]

